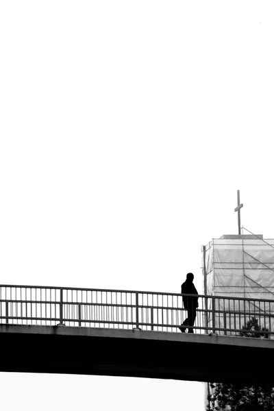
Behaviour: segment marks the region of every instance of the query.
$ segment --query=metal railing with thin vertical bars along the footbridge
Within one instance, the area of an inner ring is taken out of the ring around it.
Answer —
[[[194,301],[191,295],[186,295]],[[274,300],[198,295],[193,326],[198,334],[245,335],[256,319],[256,336],[274,335]],[[0,323],[69,325],[180,332],[188,316],[182,294],[132,290],[0,286]],[[241,333],[241,334],[240,334]],[[273,337],[274,338],[274,337]]]

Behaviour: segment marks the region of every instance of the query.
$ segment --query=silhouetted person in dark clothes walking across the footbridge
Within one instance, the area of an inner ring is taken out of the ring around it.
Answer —
[[[192,273],[188,273],[186,275],[186,281],[182,284],[181,292],[182,294],[198,294],[195,285],[193,284],[194,275]],[[188,328],[188,332],[194,332],[193,328],[190,328],[194,325],[196,319],[196,310],[198,307],[198,297],[194,295],[192,297],[185,297],[183,296],[183,303],[184,308],[188,310],[188,318],[185,319],[184,323],[182,323],[183,327],[179,327],[182,332],[186,332],[186,328]]]

